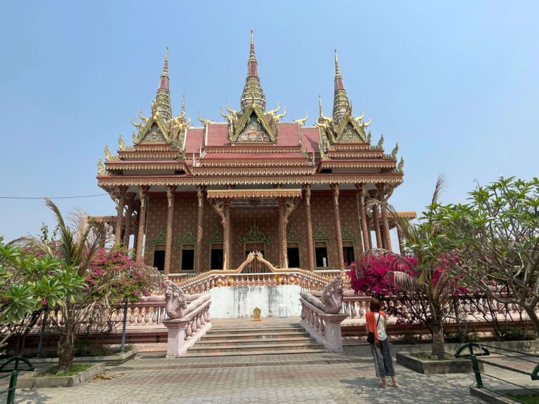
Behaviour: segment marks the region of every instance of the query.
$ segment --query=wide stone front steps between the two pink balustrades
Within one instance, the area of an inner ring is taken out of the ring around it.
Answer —
[[[219,327],[208,331],[187,357],[326,352],[299,324]]]

